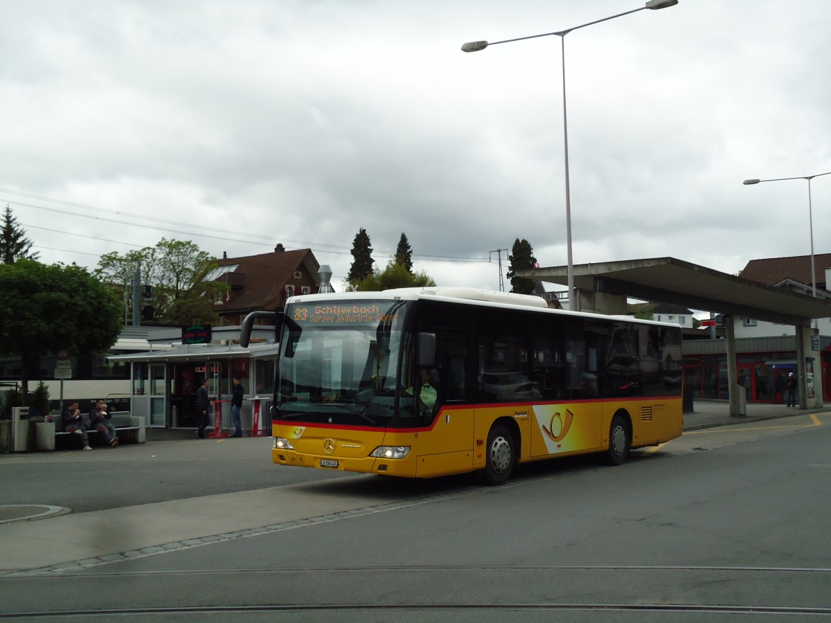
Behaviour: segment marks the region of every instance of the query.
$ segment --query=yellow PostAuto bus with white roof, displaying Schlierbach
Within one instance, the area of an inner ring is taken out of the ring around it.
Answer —
[[[550,309],[540,297],[402,288],[291,297],[272,458],[432,478],[630,449],[681,434],[681,327]]]

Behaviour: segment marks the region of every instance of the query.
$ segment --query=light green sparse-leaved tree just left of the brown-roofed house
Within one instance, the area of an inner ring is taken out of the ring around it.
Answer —
[[[155,247],[124,255],[106,253],[98,261],[101,274],[111,282],[124,283],[127,292],[139,270],[142,282],[153,286],[154,322],[174,326],[217,321],[213,305],[228,285],[204,281],[215,267],[216,259],[196,244],[166,238]]]

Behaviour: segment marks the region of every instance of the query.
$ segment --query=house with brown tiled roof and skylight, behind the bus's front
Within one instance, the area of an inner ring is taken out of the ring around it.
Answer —
[[[238,325],[248,312],[283,307],[288,297],[317,292],[320,265],[311,249],[286,251],[278,244],[273,253],[243,258],[222,258],[208,280],[229,284],[223,302],[214,312],[230,325]]]

